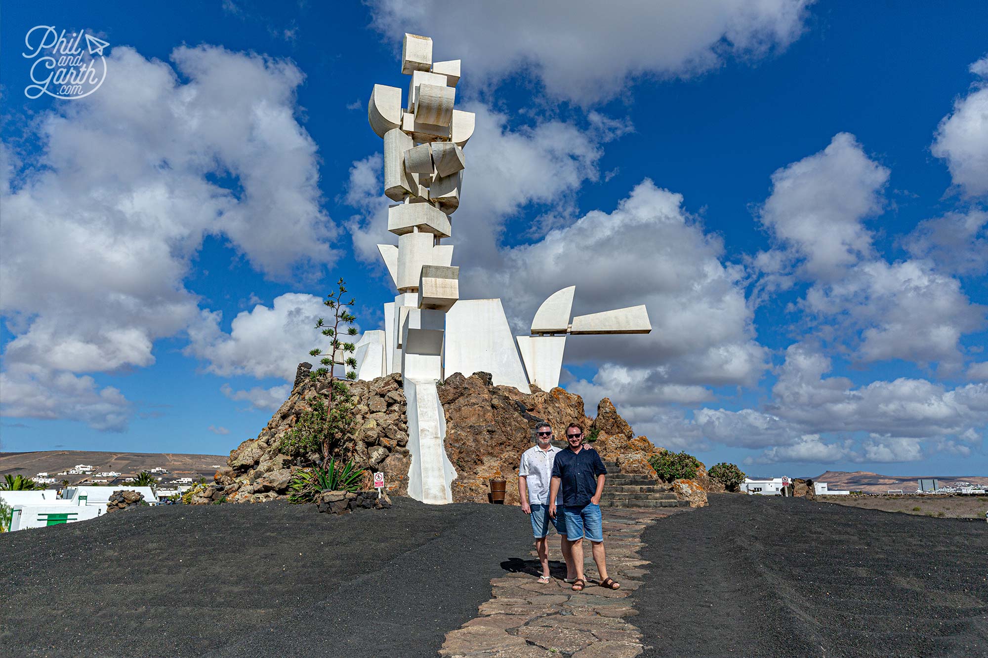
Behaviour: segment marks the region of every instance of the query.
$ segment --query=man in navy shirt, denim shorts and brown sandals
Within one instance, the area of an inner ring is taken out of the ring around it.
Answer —
[[[604,467],[597,451],[583,450],[583,428],[570,423],[566,428],[569,449],[557,452],[552,462],[552,483],[549,485],[549,516],[555,518],[556,499],[566,529],[563,539],[570,545],[576,581],[573,590],[580,592],[587,585],[583,576],[583,537],[590,539],[594,562],[601,576],[601,586],[617,590],[620,585],[608,578],[604,553],[604,529],[601,518],[601,494],[604,493]],[[560,535],[562,533],[560,532]]]

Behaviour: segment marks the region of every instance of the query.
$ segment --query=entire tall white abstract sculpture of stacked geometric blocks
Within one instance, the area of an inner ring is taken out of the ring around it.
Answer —
[[[373,86],[368,103],[371,129],[384,142],[384,195],[395,202],[387,230],[398,242],[377,249],[398,293],[384,304],[383,331],[366,332],[355,357],[361,379],[401,372],[412,457],[408,495],[441,504],[453,501],[456,477],[436,388],[447,372],[485,371],[495,384],[526,393],[530,383],[548,390],[559,383],[567,334],[648,333],[651,325],[644,306],[571,321],[571,286],[542,303],[533,335],[517,337],[516,347],[500,299],[459,299],[453,245],[442,240],[453,235],[466,168],[463,147],[475,117],[454,109],[460,62],[434,62],[432,39],[405,35],[401,72],[411,76],[404,106],[401,88],[385,85]]]

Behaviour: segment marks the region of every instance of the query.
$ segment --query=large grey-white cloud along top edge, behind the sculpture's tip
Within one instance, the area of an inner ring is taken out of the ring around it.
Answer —
[[[466,84],[531,75],[549,95],[589,106],[638,78],[688,77],[731,55],[781,50],[802,33],[808,4],[373,0],[371,11],[391,41],[427,35],[435,59],[468,63]]]

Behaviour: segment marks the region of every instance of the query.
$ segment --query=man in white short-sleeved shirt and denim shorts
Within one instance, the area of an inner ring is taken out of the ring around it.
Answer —
[[[518,495],[522,500],[522,511],[532,518],[532,534],[535,535],[535,551],[542,564],[542,575],[538,582],[547,585],[549,576],[549,523],[562,538],[562,556],[566,560],[566,580],[576,577],[572,560],[572,548],[566,541],[565,526],[557,522],[561,514],[549,517],[549,485],[552,482],[552,462],[560,449],[552,446],[552,427],[539,423],[535,427],[535,446],[522,453],[522,463],[518,467]]]

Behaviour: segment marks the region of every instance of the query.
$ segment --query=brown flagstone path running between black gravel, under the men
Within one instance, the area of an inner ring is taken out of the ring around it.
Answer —
[[[681,508],[686,511],[690,508]],[[597,585],[597,566],[590,542],[584,541],[584,574],[590,582],[583,592],[573,592],[565,575],[539,585],[535,550],[526,560],[527,571],[506,573],[491,580],[493,598],[480,606],[480,616],[446,634],[439,653],[449,658],[631,658],[644,649],[642,634],[632,623],[634,591],[649,562],[639,559],[641,533],[657,519],[679,510],[610,509],[604,514],[604,545],[608,573],[619,590]],[[549,535],[549,560],[562,564],[558,535]]]

